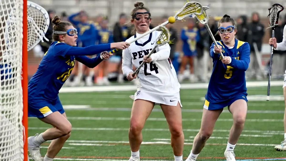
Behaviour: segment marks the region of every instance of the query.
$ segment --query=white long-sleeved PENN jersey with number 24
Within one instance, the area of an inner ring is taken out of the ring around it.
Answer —
[[[143,61],[143,56],[148,55],[155,47],[156,39],[160,35],[160,31],[154,31],[143,38],[130,44],[122,52],[122,71],[125,76],[133,72],[132,65],[136,68]],[[136,33],[126,42],[134,40],[141,34]],[[170,46],[165,44],[156,48],[151,55],[152,62],[145,63],[138,73],[136,79],[139,78],[137,90],[145,89],[154,93],[162,93],[172,95],[180,91],[180,83],[173,64],[170,61]]]

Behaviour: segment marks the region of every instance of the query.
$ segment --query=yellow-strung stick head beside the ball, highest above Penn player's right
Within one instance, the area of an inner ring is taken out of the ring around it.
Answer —
[[[187,2],[179,11],[174,15],[176,20],[184,19],[192,14],[201,15],[202,5],[198,2]]]

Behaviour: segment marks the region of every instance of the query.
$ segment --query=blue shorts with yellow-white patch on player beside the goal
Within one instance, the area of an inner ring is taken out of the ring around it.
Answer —
[[[55,101],[28,99],[28,117],[43,118],[56,111],[59,111],[61,114],[65,112],[59,97]]]

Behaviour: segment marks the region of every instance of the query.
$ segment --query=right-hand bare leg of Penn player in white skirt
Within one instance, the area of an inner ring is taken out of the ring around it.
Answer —
[[[183,160],[184,133],[182,129],[182,111],[180,103],[177,106],[163,105],[161,109],[166,117],[171,132],[171,146],[175,161]]]

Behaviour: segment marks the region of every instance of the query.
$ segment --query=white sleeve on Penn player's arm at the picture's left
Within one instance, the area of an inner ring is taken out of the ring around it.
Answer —
[[[128,49],[122,51],[122,72],[127,76],[132,70],[132,56],[129,53]]]

